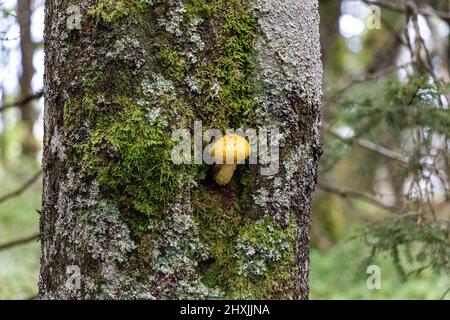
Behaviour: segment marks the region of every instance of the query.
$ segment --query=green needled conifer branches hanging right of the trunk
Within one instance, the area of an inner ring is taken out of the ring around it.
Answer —
[[[368,195],[376,190],[375,199],[383,203],[393,199],[395,207],[404,205],[404,216],[373,224],[364,233],[372,250],[365,262],[389,256],[401,281],[411,281],[425,269],[438,276],[448,275],[450,251],[446,212],[431,212],[432,209],[420,204],[434,203],[440,192],[448,196],[448,190],[438,186],[441,182],[445,185],[446,178],[439,183],[428,180],[431,175],[446,176],[444,172],[448,171],[445,165],[448,148],[436,147],[436,140],[446,141],[450,134],[450,111],[442,99],[448,95],[448,86],[428,74],[390,79],[358,83],[355,88],[347,88],[346,94],[339,93],[338,108],[329,108],[327,121],[339,123],[354,134],[348,139],[333,137],[326,141],[328,155],[322,159],[322,171],[330,178],[334,176],[334,184],[343,184],[343,189],[362,189],[361,192]],[[365,150],[364,145],[354,143],[358,138],[367,139],[372,146],[405,155],[411,161],[403,165],[382,152],[374,156],[378,153],[376,150]],[[431,168],[427,158],[434,157],[435,153],[438,155]],[[336,166],[338,161],[339,167]],[[329,172],[333,167],[335,170]],[[406,191],[411,178],[417,187],[414,185]],[[421,221],[407,215],[416,210],[421,210]],[[320,215],[320,212],[315,214]],[[365,206],[358,208],[358,214],[370,221],[380,218],[378,211],[371,212]],[[438,217],[433,216],[435,214]],[[416,270],[411,270],[415,267]]]

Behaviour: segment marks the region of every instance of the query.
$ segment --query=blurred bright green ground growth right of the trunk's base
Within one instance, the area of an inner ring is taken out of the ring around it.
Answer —
[[[450,277],[437,276],[428,269],[402,282],[391,256],[377,254],[371,264],[381,269],[381,289],[369,290],[366,286],[369,265],[364,258],[370,254],[370,248],[363,241],[353,240],[354,231],[347,231],[345,236],[346,239],[352,236],[352,240],[340,241],[328,250],[311,249],[311,299],[440,299],[450,287]],[[400,258],[408,270],[420,268],[407,259],[403,250]]]

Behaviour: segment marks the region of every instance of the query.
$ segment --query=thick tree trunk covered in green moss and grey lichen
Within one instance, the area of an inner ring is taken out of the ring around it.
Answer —
[[[317,0],[48,1],[45,44],[40,298],[308,297]],[[175,165],[195,121],[279,128],[278,172]]]

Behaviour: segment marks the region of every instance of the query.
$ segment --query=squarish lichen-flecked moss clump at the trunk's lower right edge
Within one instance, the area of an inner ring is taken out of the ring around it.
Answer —
[[[281,226],[265,216],[240,231],[229,282],[231,298],[294,299],[296,286],[295,222]]]

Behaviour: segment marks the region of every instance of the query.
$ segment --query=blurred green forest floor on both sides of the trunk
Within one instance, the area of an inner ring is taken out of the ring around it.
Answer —
[[[0,171],[0,196],[22,185],[36,171],[34,166]],[[19,197],[0,203],[0,245],[38,231],[41,182]],[[351,232],[348,232],[347,237]],[[390,258],[378,259],[381,289],[369,290],[370,276],[362,267],[369,248],[358,240],[344,240],[328,250],[311,251],[312,299],[440,299],[450,279],[428,270],[401,282]],[[0,299],[27,299],[37,293],[39,243],[30,242],[0,251]],[[450,299],[447,295],[446,299]]]

